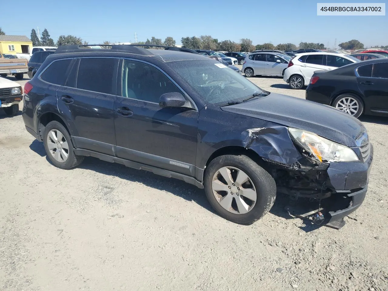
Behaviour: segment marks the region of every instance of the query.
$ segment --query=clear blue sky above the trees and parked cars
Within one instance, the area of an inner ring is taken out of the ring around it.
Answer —
[[[388,16],[317,16],[317,2],[311,0],[67,0],[39,5],[21,1],[17,7],[24,2],[25,21],[2,14],[0,26],[8,35],[29,37],[31,29],[39,26],[41,32],[47,28],[54,42],[64,34],[90,44],[134,42],[136,32],[138,41],[172,36],[177,44],[184,36],[211,35],[219,41],[250,38],[254,45],[303,41],[329,43],[332,48],[335,38],[337,45],[352,39],[365,46],[388,45]]]

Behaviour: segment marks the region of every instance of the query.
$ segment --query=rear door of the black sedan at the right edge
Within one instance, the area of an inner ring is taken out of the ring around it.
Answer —
[[[357,84],[364,95],[365,111],[388,114],[388,62],[357,68]]]

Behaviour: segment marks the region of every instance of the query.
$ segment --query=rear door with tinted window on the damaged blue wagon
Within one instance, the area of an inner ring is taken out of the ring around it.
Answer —
[[[57,91],[58,108],[74,124],[77,147],[114,155],[113,102],[118,59],[75,59],[64,86]]]

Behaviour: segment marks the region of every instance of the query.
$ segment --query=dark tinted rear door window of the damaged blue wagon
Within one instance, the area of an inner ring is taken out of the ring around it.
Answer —
[[[77,88],[116,95],[118,59],[80,59]]]

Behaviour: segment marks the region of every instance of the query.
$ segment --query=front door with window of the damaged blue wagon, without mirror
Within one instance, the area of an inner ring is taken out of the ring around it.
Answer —
[[[198,111],[161,108],[162,94],[183,92],[151,64],[123,60],[121,96],[114,102],[119,158],[195,175]]]

